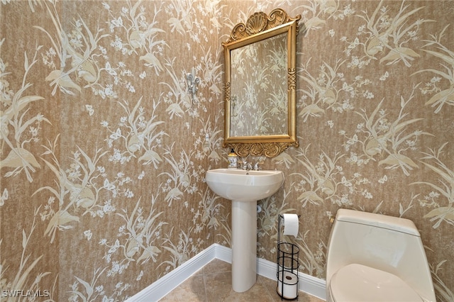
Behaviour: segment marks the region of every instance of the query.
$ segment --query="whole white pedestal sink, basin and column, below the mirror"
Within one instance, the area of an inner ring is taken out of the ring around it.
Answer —
[[[232,201],[232,287],[239,293],[257,278],[257,201],[275,194],[284,183],[282,171],[212,169],[206,184]]]

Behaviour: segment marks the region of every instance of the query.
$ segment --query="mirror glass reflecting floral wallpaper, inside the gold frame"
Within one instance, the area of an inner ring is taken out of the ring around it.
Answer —
[[[230,137],[288,133],[287,34],[231,50]]]

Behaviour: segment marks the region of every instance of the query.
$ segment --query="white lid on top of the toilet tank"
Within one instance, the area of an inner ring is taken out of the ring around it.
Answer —
[[[414,225],[413,221],[406,218],[385,216],[375,213],[367,213],[340,208],[336,213],[336,220],[348,223],[371,225],[377,228],[385,228],[401,233],[420,236],[419,231],[416,228],[416,225]]]

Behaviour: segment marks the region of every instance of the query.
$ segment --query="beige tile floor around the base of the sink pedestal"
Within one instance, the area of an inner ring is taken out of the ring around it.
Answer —
[[[277,281],[267,279],[264,276],[258,275],[257,283],[244,293],[233,291],[231,284],[231,264],[214,259],[168,293],[160,302],[288,301],[281,300],[277,294]],[[323,302],[323,300],[303,291],[299,291],[298,298],[294,301]]]

